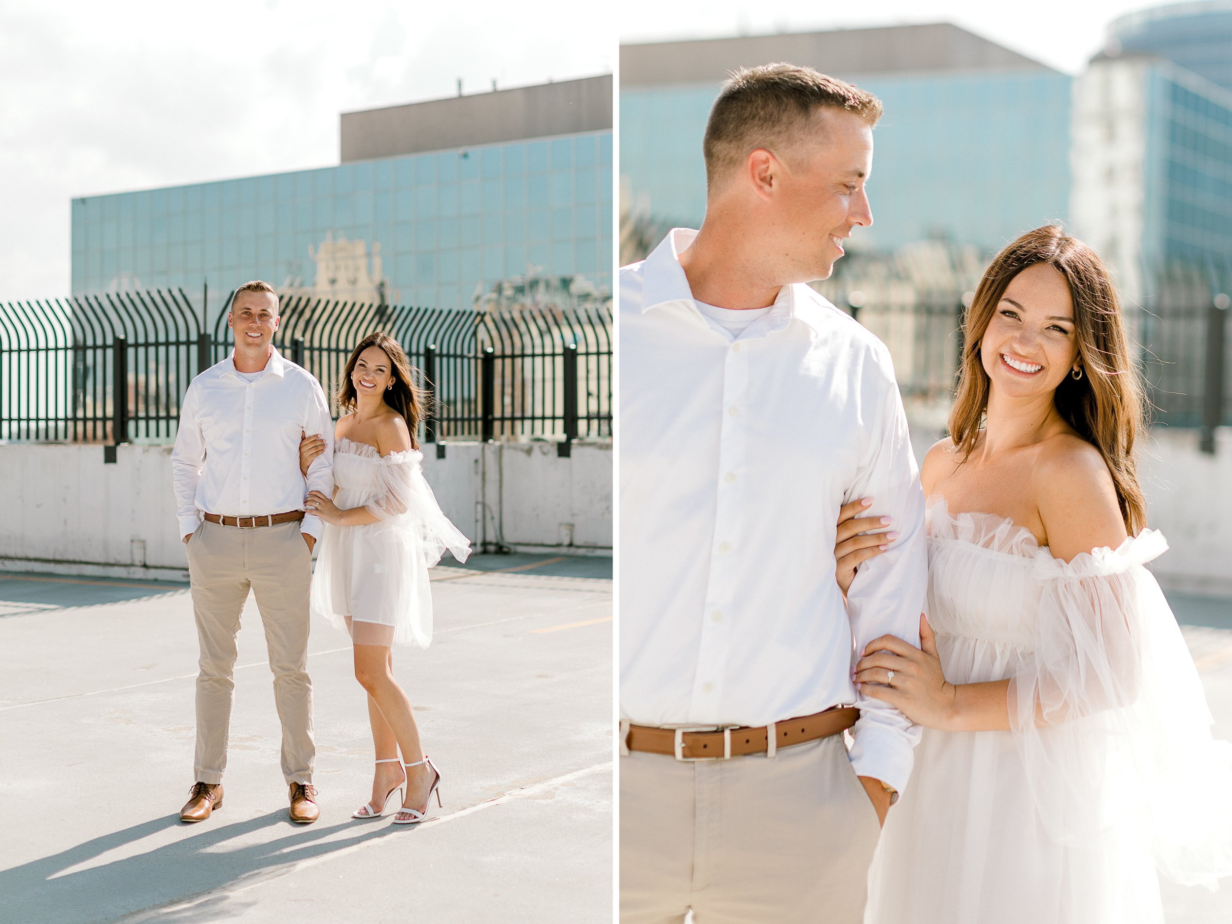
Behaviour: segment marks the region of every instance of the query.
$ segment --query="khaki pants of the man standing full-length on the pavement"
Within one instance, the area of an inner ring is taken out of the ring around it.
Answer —
[[[202,522],[188,540],[187,554],[201,643],[196,779],[222,782],[227,769],[235,633],[251,589],[265,626],[274,701],[282,722],[282,775],[288,784],[312,782],[317,756],[307,671],[312,565],[299,522],[253,530]]]

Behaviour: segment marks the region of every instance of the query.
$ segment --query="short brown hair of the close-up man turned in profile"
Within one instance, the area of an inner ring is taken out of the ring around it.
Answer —
[[[713,190],[749,152],[788,148],[818,108],[853,112],[870,127],[881,118],[881,100],[871,92],[812,68],[763,64],[734,71],[706,121],[706,187]]]

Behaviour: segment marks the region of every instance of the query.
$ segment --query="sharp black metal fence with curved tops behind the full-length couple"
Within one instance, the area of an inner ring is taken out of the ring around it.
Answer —
[[[230,299],[227,299],[229,306]],[[356,342],[397,339],[435,398],[424,442],[611,435],[611,312],[499,312],[285,297],[275,345],[330,404]],[[182,291],[0,303],[0,440],[170,442],[184,393],[224,359],[225,308]],[[118,399],[117,399],[118,397]]]

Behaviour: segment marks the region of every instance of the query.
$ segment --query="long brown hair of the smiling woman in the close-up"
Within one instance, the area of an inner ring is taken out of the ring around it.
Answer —
[[[988,373],[979,341],[1005,288],[1027,266],[1047,264],[1069,285],[1083,377],[1066,376],[1053,394],[1057,413],[1099,450],[1112,474],[1121,516],[1130,535],[1146,526],[1133,445],[1143,421],[1142,383],[1130,360],[1116,288],[1095,251],[1061,228],[1027,232],[1002,250],[984,271],[963,318],[963,350],[957,393],[950,409],[950,437],[966,458],[976,446],[988,409]]]

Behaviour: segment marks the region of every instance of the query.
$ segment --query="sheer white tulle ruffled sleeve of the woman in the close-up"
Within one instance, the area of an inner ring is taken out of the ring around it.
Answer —
[[[1039,549],[1034,652],[1009,684],[1010,729],[1048,833],[1129,823],[1169,878],[1232,875],[1232,745],[1212,717],[1143,530],[1066,563]],[[1127,814],[1129,813],[1129,814]]]

